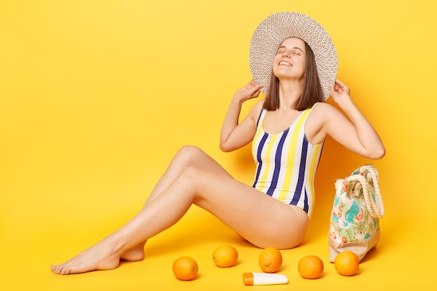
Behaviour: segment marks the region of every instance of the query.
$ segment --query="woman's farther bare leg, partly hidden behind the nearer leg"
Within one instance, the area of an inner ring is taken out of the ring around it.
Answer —
[[[153,201],[158,195],[172,184],[173,181],[184,171],[187,167],[198,167],[200,169],[209,170],[216,174],[221,174],[225,177],[231,177],[226,170],[221,167],[213,158],[205,154],[204,151],[198,147],[185,146],[179,149],[175,157],[172,159],[168,169],[165,170],[161,179],[151,191],[147,201],[144,205],[146,207],[151,201]],[[143,208],[144,208],[143,207]],[[146,241],[140,242],[140,244],[134,246],[128,251],[121,254],[121,260],[130,262],[136,262],[144,259],[144,247]]]

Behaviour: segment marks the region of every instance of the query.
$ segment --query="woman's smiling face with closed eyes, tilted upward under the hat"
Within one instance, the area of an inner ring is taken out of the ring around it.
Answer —
[[[279,80],[301,80],[305,73],[305,43],[300,38],[287,38],[278,48],[273,73]]]

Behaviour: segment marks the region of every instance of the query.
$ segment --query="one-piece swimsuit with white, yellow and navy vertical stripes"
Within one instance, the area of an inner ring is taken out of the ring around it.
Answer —
[[[304,127],[311,108],[301,112],[282,133],[269,134],[262,128],[267,110],[262,109],[252,142],[256,163],[256,188],[286,204],[302,208],[308,216],[314,205],[314,178],[324,141],[311,144]]]

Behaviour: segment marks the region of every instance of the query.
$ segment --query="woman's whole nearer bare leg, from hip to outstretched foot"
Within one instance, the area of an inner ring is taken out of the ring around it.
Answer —
[[[121,254],[179,221],[191,204],[211,212],[260,247],[297,246],[309,222],[302,209],[283,204],[221,172],[186,167],[126,225],[52,270],[57,274],[74,274],[114,269]]]

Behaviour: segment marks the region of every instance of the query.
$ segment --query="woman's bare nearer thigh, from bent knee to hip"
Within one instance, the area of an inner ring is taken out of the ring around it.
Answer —
[[[197,193],[194,204],[255,246],[292,248],[304,238],[309,218],[302,209],[208,170],[193,168],[191,175]]]

